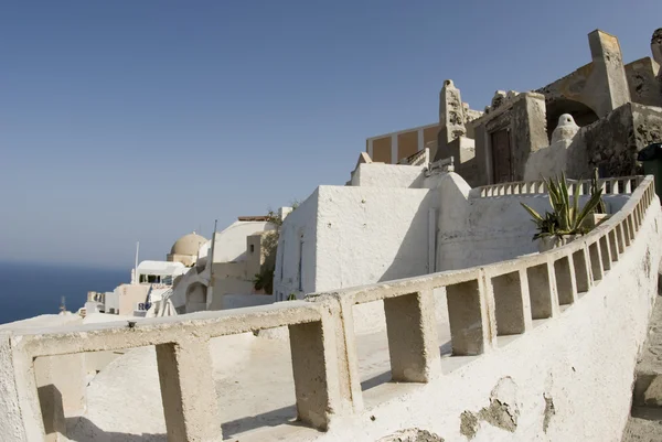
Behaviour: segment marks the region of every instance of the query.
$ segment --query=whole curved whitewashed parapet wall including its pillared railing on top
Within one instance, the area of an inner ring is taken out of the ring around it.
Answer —
[[[299,420],[324,431],[290,440],[388,440],[404,429],[449,441],[619,440],[656,293],[662,214],[652,184],[630,179],[621,211],[545,254],[136,326],[2,334],[0,434],[36,441],[63,428],[53,403],[68,392],[53,379],[38,394],[35,359],[154,345],[169,440],[221,440],[209,341],[287,325]],[[440,291],[451,355],[439,352]],[[384,302],[394,382],[362,390],[353,306],[374,301]]]

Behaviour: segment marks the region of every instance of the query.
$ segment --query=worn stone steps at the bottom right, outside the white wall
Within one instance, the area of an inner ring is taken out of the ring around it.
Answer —
[[[655,300],[648,338],[634,368],[632,410],[622,442],[662,442],[662,297]]]

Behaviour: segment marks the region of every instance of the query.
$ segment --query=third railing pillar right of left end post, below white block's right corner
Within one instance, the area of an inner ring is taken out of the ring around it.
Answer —
[[[428,382],[439,373],[433,291],[384,300],[393,380]]]

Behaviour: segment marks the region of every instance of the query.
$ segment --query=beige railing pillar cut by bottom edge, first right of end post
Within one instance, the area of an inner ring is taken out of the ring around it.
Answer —
[[[209,342],[157,345],[168,441],[221,441],[221,419]]]

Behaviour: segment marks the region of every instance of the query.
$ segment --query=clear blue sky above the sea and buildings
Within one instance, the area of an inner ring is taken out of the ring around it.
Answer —
[[[365,139],[590,61],[661,0],[0,1],[0,260],[125,267],[344,184]]]

